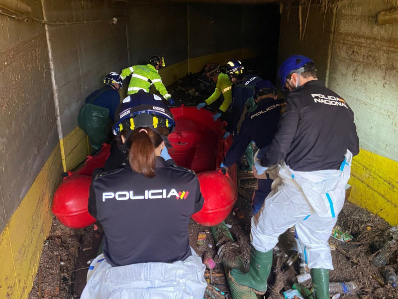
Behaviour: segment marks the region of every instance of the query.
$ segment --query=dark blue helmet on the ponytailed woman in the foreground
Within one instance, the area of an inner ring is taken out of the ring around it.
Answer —
[[[138,127],[148,127],[156,133],[158,127],[167,127],[171,133],[175,126],[173,115],[162,99],[140,90],[126,97],[117,107],[113,134],[118,135],[122,130],[132,131]]]

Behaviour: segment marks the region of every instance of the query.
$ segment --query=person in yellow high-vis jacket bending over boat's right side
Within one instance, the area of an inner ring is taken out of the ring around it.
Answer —
[[[216,85],[213,94],[203,103],[199,103],[197,108],[199,110],[206,105],[210,105],[222,95],[224,100],[221,106],[217,109],[217,112],[213,115],[213,120],[215,122],[223,113],[227,111],[232,102],[232,82],[229,80],[227,74],[221,73],[220,66],[217,64],[207,65],[204,73],[208,78],[211,78]]]

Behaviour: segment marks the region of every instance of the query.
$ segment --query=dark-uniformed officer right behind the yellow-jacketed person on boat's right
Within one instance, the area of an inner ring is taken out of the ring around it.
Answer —
[[[261,81],[261,77],[245,74],[244,69],[242,62],[237,59],[232,59],[226,64],[226,73],[233,85],[231,114],[228,118],[228,125],[225,128],[224,139],[230,134],[235,135],[236,138],[242,118],[244,119],[246,114],[253,112],[257,108],[257,103],[254,100],[254,87]],[[243,167],[242,170],[251,171],[254,163],[254,152],[251,143],[246,148],[245,157],[247,167]]]

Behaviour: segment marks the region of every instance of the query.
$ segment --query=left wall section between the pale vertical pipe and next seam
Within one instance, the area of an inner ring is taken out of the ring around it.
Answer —
[[[78,126],[77,115],[84,99],[103,86],[102,79],[107,73],[118,72],[128,62],[125,3],[99,0],[44,3],[48,22],[88,21],[48,26],[61,137],[65,138]],[[116,24],[110,22],[112,17],[119,17]],[[90,23],[98,20],[105,21]],[[74,131],[61,150],[65,151],[68,170],[82,161],[87,154],[82,131]]]

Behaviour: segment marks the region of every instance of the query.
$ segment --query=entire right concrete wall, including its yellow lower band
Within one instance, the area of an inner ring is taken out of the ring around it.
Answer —
[[[319,79],[328,74],[329,88],[351,106],[361,152],[353,159],[350,200],[396,225],[398,24],[376,23],[388,8],[384,0],[348,1],[326,14],[312,7],[300,40],[299,10],[291,7],[281,18],[278,60],[298,53],[313,58]],[[302,31],[307,11],[303,6]]]

